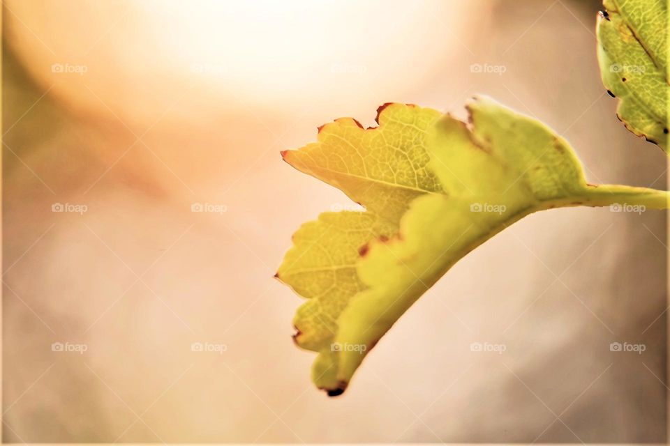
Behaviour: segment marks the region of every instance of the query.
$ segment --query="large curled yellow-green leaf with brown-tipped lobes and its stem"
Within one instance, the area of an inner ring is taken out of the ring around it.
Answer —
[[[470,124],[387,104],[377,128],[352,118],[283,159],[341,189],[364,212],[322,213],[295,233],[277,276],[307,298],[298,346],[312,378],[341,394],[365,355],[461,257],[521,217],[562,206],[667,207],[667,192],[588,185],[572,148],[542,123],[487,98]]]

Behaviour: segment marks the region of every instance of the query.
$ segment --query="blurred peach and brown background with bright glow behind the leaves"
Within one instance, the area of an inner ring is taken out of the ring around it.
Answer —
[[[3,440],[664,442],[664,213],[527,217],[337,399],[272,279],[302,222],[352,204],[278,152],[383,102],[464,116],[491,95],[571,141],[591,183],[664,189],[664,153],[600,82],[599,8],[3,1]]]

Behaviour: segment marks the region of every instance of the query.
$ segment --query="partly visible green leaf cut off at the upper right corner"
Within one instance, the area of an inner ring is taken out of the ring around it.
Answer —
[[[604,0],[597,24],[602,82],[626,128],[668,151],[667,0]]]

